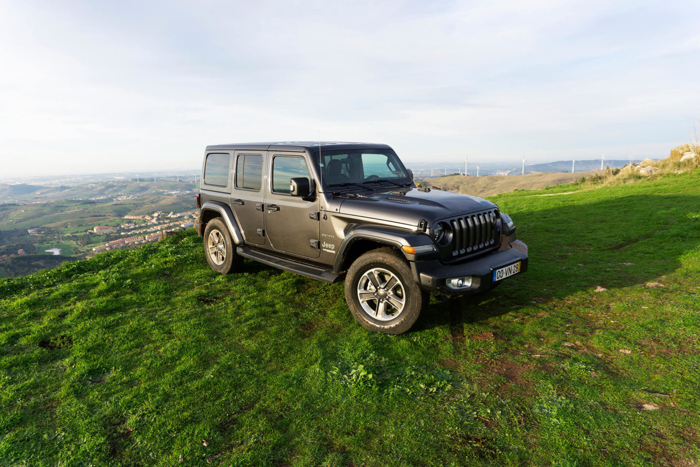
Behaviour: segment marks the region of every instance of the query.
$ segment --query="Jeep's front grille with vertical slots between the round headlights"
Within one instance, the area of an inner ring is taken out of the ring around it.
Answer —
[[[452,218],[452,257],[461,258],[492,249],[500,243],[498,209]]]

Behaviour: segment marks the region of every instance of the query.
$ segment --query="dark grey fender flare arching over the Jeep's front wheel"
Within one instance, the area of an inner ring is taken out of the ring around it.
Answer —
[[[406,253],[401,249],[402,246],[421,246],[425,244],[432,244],[432,241],[428,235],[415,232],[414,230],[384,227],[379,225],[366,225],[353,228],[353,230],[348,232],[348,235],[346,235],[346,237],[343,239],[333,263],[334,271],[340,270],[339,268],[342,267],[347,252],[350,251],[352,244],[358,240],[371,240],[372,242],[395,246],[409,261],[426,260],[437,257],[437,250],[433,250],[432,252],[429,251],[427,253],[411,254]]]

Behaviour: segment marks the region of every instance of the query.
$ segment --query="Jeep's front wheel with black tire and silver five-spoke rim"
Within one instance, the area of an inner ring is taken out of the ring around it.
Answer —
[[[407,261],[398,251],[381,248],[368,251],[352,263],[345,278],[345,300],[364,328],[402,334],[428,307],[430,294],[415,283]]]

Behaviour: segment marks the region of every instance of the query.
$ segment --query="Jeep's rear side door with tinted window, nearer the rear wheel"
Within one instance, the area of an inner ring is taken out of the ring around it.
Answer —
[[[262,174],[265,172],[267,151],[235,151],[231,189],[231,210],[236,217],[246,243],[265,244],[265,217],[262,212],[265,190]]]

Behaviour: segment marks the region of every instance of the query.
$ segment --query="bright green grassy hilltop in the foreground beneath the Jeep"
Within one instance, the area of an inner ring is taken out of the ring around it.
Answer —
[[[697,465],[700,174],[577,188],[494,197],[530,270],[400,336],[191,232],[0,279],[2,465]]]

